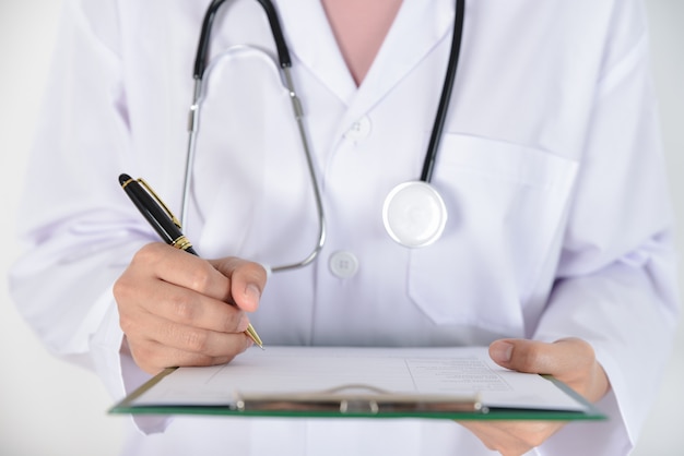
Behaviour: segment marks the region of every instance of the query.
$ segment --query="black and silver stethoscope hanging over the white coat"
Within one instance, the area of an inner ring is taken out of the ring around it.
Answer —
[[[285,88],[287,88],[287,92],[290,93],[290,99],[292,101],[294,117],[297,122],[302,147],[304,149],[308,173],[311,181],[319,224],[318,242],[311,252],[298,262],[270,267],[271,272],[279,272],[304,267],[310,264],[316,256],[318,256],[318,253],[321,251],[326,242],[326,219],[320,187],[318,184],[318,178],[316,177],[314,160],[304,127],[304,112],[299,98],[296,95],[291,75],[292,60],[290,58],[290,50],[285,45],[283,29],[273,3],[271,3],[270,0],[258,1],[268,16],[271,33],[273,35],[273,39],[275,40],[280,70],[283,76],[282,81]],[[189,140],[180,207],[180,221],[184,225],[188,212],[187,208],[191,185],[192,167],[197,152],[197,134],[200,123],[199,113],[202,99],[203,76],[208,67],[209,41],[216,12],[224,2],[225,0],[213,0],[209,5],[209,9],[204,14],[200,41],[194,58],[194,86],[188,122]],[[464,14],[465,0],[456,0],[456,19],[449,62],[445,75],[444,87],[439,98],[435,123],[431,133],[425,160],[423,163],[421,178],[420,180],[403,182],[394,187],[387,195],[382,205],[382,221],[388,235],[396,242],[408,248],[421,248],[434,243],[441,237],[447,223],[446,204],[439,192],[431,184],[431,180],[433,177],[433,170],[435,167],[435,160],[439,148],[439,141],[441,139],[447,111],[449,109],[449,100],[453,89],[453,82],[456,80],[456,71],[461,49],[461,38],[463,35]]]

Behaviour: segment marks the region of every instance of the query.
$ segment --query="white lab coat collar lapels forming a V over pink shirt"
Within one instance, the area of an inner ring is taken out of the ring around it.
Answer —
[[[431,3],[437,3],[437,8]],[[295,56],[293,65],[302,64],[326,84],[347,106],[350,119],[355,119],[378,103],[449,35],[455,2],[404,0],[359,87],[342,58],[319,0],[283,1],[279,3],[279,13]]]

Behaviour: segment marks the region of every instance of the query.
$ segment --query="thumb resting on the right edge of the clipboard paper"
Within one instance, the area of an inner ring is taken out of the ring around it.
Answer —
[[[490,356],[504,368],[519,372],[552,374],[573,379],[594,362],[591,346],[578,338],[542,343],[528,339],[502,339],[492,343]]]

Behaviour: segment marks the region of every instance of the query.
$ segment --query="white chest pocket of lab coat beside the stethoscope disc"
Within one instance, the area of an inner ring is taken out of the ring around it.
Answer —
[[[449,220],[437,243],[411,252],[414,303],[436,324],[521,329],[521,308],[558,254],[577,168],[533,147],[445,135],[433,183]]]

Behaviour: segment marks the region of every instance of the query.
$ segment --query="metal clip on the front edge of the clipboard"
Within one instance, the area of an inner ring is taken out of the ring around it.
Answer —
[[[316,393],[235,394],[238,411],[308,411],[341,415],[479,412],[488,409],[480,395],[422,395],[390,393],[375,386],[350,384]]]

